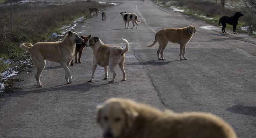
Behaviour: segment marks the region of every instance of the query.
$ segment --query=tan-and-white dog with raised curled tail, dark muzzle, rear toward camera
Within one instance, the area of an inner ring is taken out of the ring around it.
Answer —
[[[122,38],[123,39],[123,38]],[[92,37],[86,43],[85,46],[91,47],[93,50],[93,66],[92,66],[92,77],[87,82],[92,82],[94,78],[94,73],[97,65],[104,67],[105,69],[105,78],[108,79],[107,76],[107,67],[109,66],[110,70],[113,73],[113,79],[109,82],[114,82],[116,77],[115,67],[117,64],[119,65],[121,71],[123,72],[123,79],[125,81],[125,71],[124,71],[124,61],[125,61],[125,53],[129,50],[129,43],[126,39],[123,39],[126,44],[125,49],[122,49],[119,46],[109,46],[101,42],[98,37]]]

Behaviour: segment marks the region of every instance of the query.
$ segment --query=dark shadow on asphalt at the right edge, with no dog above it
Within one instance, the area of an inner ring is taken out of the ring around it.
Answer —
[[[241,104],[234,105],[226,109],[229,112],[256,117],[256,106],[244,106]]]

